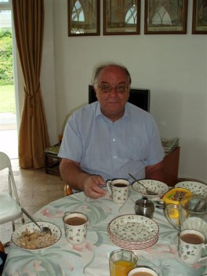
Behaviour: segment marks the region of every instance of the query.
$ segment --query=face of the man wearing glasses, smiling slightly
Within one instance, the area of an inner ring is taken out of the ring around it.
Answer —
[[[117,121],[124,115],[128,101],[130,83],[126,72],[118,66],[108,66],[101,70],[95,92],[103,115]]]

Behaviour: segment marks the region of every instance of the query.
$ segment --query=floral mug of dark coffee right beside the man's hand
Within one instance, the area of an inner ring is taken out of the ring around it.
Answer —
[[[113,179],[106,181],[108,192],[116,204],[124,204],[128,200],[130,183],[126,179]]]

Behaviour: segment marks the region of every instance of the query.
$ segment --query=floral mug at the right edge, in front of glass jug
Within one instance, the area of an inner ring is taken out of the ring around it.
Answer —
[[[207,255],[201,257],[204,248],[207,248],[207,244],[203,233],[192,229],[183,230],[179,233],[178,253],[181,260],[186,264],[197,264],[206,259]]]

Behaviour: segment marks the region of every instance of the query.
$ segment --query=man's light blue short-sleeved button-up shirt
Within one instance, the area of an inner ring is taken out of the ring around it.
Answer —
[[[159,163],[164,150],[150,113],[126,103],[124,116],[112,122],[101,113],[99,102],[73,112],[63,133],[59,157],[80,163],[81,168],[105,181],[145,178],[145,167]],[[69,172],[70,173],[70,172]]]

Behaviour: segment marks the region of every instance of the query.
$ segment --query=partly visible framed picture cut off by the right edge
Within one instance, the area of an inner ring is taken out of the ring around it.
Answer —
[[[192,34],[207,34],[206,0],[193,0]]]

